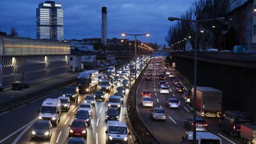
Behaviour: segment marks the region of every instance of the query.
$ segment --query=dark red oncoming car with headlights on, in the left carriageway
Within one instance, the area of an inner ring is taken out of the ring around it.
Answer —
[[[75,119],[68,126],[70,127],[68,137],[87,137],[87,123],[85,120]]]

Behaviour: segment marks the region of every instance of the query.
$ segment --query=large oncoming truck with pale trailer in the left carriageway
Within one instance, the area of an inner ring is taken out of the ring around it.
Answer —
[[[95,70],[80,72],[76,82],[79,93],[90,93],[95,90],[99,84],[99,72]]]

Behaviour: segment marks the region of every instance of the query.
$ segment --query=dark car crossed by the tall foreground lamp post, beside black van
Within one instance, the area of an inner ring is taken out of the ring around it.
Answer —
[[[196,125],[195,125],[196,131],[208,132],[208,123],[206,123],[204,118],[196,117],[195,122],[196,122]],[[189,131],[193,131],[193,117],[186,118],[184,126],[185,128],[188,128]]]

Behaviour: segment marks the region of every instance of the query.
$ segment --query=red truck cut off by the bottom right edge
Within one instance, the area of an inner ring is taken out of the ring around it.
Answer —
[[[256,126],[241,125],[240,137],[243,138],[244,143],[256,144]]]

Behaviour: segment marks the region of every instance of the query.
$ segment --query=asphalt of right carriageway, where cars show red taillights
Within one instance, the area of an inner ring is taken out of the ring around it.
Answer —
[[[142,120],[149,127],[150,131],[155,135],[157,140],[161,143],[181,143],[181,137],[185,136],[185,132],[188,131],[184,127],[185,118],[193,116],[193,112],[189,111],[189,105],[181,100],[181,93],[175,92],[175,86],[173,86],[172,81],[175,79],[166,77],[168,80],[168,87],[170,88],[170,93],[163,95],[160,94],[160,88],[158,87],[158,80],[156,78],[156,71],[152,71],[152,81],[145,81],[142,78],[140,86],[137,88],[137,110]],[[145,76],[144,76],[145,77]],[[154,100],[154,107],[163,107],[166,112],[166,121],[152,121],[149,117],[150,109],[149,107],[141,107],[141,92],[142,90],[150,90],[151,97]],[[166,99],[168,98],[178,98],[181,102],[179,109],[169,109],[166,108]],[[208,132],[220,137],[223,143],[242,143],[239,137],[231,137],[229,133],[222,132],[219,130],[219,118],[214,117],[204,117],[205,121],[208,122]]]

